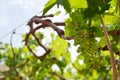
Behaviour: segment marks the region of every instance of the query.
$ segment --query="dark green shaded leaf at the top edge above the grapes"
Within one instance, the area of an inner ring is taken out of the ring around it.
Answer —
[[[110,8],[111,0],[87,0],[88,7],[84,11],[84,18],[93,18],[96,14],[103,14]]]

